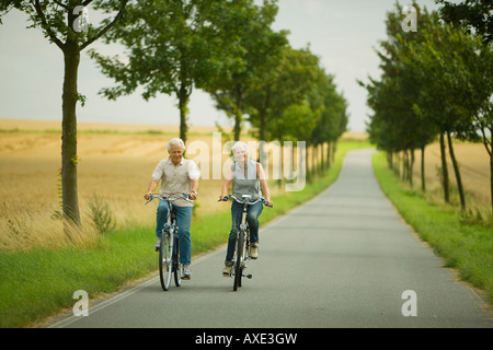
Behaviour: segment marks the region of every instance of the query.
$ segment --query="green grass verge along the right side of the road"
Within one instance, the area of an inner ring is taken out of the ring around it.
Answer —
[[[460,221],[460,211],[445,205],[431,203],[420,189],[402,186],[388,168],[386,156],[372,159],[375,174],[386,196],[423,241],[455,268],[460,279],[485,291],[493,305],[493,232],[491,228]]]

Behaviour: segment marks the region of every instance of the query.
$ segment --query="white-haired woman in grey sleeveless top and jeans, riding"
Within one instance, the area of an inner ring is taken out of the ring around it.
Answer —
[[[251,196],[252,201],[262,197],[272,206],[271,194],[267,182],[265,179],[262,164],[250,160],[249,148],[246,143],[238,141],[231,149],[234,155],[234,163],[226,175],[222,183],[221,196],[219,199],[228,196],[228,188],[233,183],[233,196],[241,198],[243,195]],[[228,250],[226,254],[225,268],[222,276],[229,277],[233,266],[232,258],[234,255],[234,245],[237,238],[237,230],[241,222],[242,205],[232,201],[231,205],[231,232],[229,233]],[[259,257],[259,215],[262,213],[262,201],[249,207],[246,221],[250,226],[250,257],[256,259]]]

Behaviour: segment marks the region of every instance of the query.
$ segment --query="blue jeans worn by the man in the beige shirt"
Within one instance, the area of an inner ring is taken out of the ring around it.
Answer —
[[[192,223],[192,209],[193,207],[176,207],[176,223],[179,226],[179,242],[180,242],[180,262],[183,265],[190,265],[192,261],[192,240],[190,237],[190,225]],[[168,202],[160,200],[158,206],[156,235],[162,236],[162,228],[167,223],[168,217]]]

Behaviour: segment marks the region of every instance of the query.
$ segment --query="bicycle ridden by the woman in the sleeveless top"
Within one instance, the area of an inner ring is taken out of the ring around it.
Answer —
[[[233,255],[233,266],[231,268],[230,277],[233,278],[233,291],[238,290],[238,287],[242,285],[243,277],[248,279],[252,279],[252,275],[243,275],[243,270],[246,269],[246,262],[250,260],[250,228],[246,221],[246,213],[249,210],[249,206],[255,205],[262,201],[265,206],[273,208],[270,206],[265,198],[259,198],[254,201],[251,201],[252,196],[243,195],[241,196],[241,200],[234,197],[233,195],[225,196],[222,199],[218,201],[228,201],[228,199],[236,200],[240,205],[243,206],[241,213],[241,223],[240,230],[237,230],[237,238],[236,238],[236,247]]]

